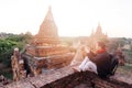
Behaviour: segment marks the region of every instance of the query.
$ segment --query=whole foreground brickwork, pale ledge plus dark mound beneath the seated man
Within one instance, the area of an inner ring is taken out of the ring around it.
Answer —
[[[129,84],[100,79],[90,72],[75,73],[72,66],[51,70],[7,85],[6,88],[132,88]]]

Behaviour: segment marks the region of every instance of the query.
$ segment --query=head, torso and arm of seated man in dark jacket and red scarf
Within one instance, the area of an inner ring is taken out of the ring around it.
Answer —
[[[106,44],[98,42],[96,45],[96,53],[88,53],[88,57],[97,65],[97,73],[101,78],[107,78],[110,74],[111,55],[106,51]]]

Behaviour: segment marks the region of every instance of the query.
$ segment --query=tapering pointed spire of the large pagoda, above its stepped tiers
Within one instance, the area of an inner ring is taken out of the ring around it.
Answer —
[[[47,41],[48,38],[48,41]],[[52,8],[48,8],[48,11],[45,15],[44,21],[40,25],[38,33],[34,36],[33,42],[35,43],[52,43],[56,44],[59,43],[58,34],[57,34],[57,26],[55,24]]]

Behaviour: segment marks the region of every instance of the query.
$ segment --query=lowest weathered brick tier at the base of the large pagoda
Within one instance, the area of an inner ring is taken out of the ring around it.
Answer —
[[[33,58],[31,58],[26,54],[23,54],[22,57],[25,59],[26,66],[30,66],[29,69],[31,69],[31,73],[34,75],[36,73],[38,75],[42,73],[43,68],[56,69],[69,65],[69,63],[74,57],[74,54],[67,53],[63,55],[55,55],[48,57],[33,57]]]

